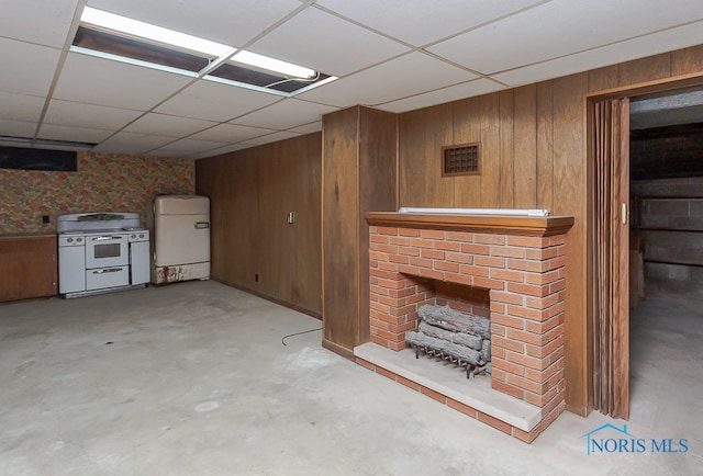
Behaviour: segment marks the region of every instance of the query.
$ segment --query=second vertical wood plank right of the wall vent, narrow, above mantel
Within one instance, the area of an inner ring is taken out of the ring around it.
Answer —
[[[513,133],[515,118],[515,102],[513,90],[499,93],[499,124],[501,135],[500,152],[500,206],[503,208],[515,207],[515,155],[513,150]]]

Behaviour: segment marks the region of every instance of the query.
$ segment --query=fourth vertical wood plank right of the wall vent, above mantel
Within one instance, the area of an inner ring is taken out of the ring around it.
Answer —
[[[537,207],[554,209],[554,84],[537,84]]]

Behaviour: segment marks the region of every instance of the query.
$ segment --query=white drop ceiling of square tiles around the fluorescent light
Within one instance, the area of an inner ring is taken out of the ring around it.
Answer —
[[[339,79],[292,97],[70,50],[83,7]],[[203,158],[703,44],[700,0],[4,0],[0,136]]]

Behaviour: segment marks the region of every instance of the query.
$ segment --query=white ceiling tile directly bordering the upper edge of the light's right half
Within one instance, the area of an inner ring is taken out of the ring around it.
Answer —
[[[348,75],[408,50],[400,43],[314,8],[248,49],[333,76]]]

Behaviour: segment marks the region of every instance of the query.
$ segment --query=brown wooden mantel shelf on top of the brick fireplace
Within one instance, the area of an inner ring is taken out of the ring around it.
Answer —
[[[453,215],[397,212],[368,212],[366,222],[372,226],[536,237],[562,235],[573,226],[572,216]]]

